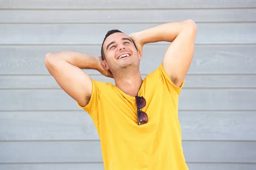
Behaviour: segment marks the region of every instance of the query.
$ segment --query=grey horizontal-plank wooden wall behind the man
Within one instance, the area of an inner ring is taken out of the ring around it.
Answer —
[[[256,170],[256,0],[1,0],[0,170],[103,170],[96,128],[49,75],[45,54],[100,55],[110,29],[186,19],[198,26],[179,104],[187,164]],[[143,77],[167,47],[145,46]]]

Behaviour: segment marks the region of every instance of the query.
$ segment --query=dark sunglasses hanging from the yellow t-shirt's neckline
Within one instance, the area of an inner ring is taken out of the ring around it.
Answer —
[[[146,105],[146,100],[143,96],[135,96],[136,105],[137,105],[137,117],[138,117],[138,125],[143,125],[148,122],[148,115],[141,111],[141,108],[144,108]]]

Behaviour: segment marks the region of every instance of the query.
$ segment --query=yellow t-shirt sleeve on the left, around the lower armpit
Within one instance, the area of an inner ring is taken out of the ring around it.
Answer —
[[[91,80],[92,80],[93,89],[92,89],[92,94],[91,94],[89,103],[84,107],[82,107],[78,102],[77,104],[80,108],[84,109],[84,111],[89,113],[90,116],[95,117],[96,110],[99,104],[99,88],[98,88],[97,82],[94,81],[93,79]]]

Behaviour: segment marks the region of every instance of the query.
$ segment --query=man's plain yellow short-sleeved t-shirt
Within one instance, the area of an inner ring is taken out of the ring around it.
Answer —
[[[145,77],[138,93],[146,100],[144,125],[137,122],[135,97],[109,82],[92,81],[91,99],[83,109],[99,133],[105,170],[188,170],[178,120],[184,81],[176,87],[162,64]]]

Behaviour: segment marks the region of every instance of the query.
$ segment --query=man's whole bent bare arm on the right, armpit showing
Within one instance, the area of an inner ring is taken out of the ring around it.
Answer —
[[[163,68],[177,87],[183,82],[194,55],[197,28],[193,20],[164,23],[159,26],[137,32],[135,44],[139,51],[146,43],[172,42],[163,57]]]

